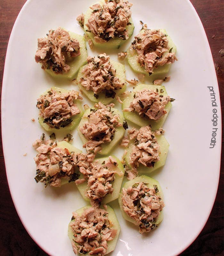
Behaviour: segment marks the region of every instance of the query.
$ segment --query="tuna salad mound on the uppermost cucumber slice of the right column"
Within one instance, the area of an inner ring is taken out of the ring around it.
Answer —
[[[168,43],[167,35],[160,29],[143,29],[135,36],[130,50],[136,50],[138,63],[151,75],[155,68],[174,63],[177,60],[172,48],[169,50]]]

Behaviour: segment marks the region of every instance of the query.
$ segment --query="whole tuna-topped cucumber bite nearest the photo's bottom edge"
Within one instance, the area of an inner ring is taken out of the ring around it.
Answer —
[[[104,256],[112,252],[120,233],[120,225],[114,210],[85,206],[73,212],[68,225],[68,237],[76,255]]]

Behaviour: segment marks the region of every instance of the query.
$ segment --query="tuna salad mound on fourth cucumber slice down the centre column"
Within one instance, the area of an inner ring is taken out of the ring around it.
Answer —
[[[118,173],[117,165],[116,160],[109,156],[102,164],[96,160],[90,163],[89,168],[80,169],[84,178],[76,180],[76,184],[87,180],[88,189],[85,196],[91,200],[92,206],[99,207],[103,198],[113,193],[112,182],[115,180],[115,174]]]

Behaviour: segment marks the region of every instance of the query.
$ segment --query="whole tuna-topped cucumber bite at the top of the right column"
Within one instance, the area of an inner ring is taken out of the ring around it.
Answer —
[[[164,29],[150,30],[143,26],[128,48],[127,58],[135,72],[164,77],[170,64],[177,60],[175,52],[176,46]]]

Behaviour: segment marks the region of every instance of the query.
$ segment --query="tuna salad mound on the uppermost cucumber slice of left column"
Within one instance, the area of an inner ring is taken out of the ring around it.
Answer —
[[[67,73],[70,70],[67,60],[79,55],[79,41],[71,38],[68,31],[62,28],[51,29],[47,37],[38,38],[35,60],[42,64],[43,69],[51,69],[57,74]]]

